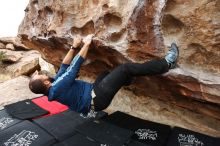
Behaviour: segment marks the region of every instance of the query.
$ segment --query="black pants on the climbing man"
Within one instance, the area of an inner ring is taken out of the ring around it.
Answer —
[[[163,74],[169,70],[165,59],[152,60],[145,63],[125,63],[114,70],[104,72],[98,76],[94,83],[95,111],[106,109],[114,95],[124,86],[129,85],[136,76]]]

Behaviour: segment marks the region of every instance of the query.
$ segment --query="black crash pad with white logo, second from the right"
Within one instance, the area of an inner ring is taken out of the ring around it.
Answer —
[[[171,127],[168,125],[146,121],[120,111],[102,120],[133,131],[133,140],[151,146],[163,146],[171,131]]]

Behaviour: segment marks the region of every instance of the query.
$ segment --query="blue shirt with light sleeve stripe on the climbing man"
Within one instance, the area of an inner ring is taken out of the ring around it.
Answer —
[[[49,89],[49,101],[56,100],[77,112],[89,112],[93,85],[88,82],[76,80],[83,62],[84,58],[76,55],[70,65],[61,65],[55,81]]]

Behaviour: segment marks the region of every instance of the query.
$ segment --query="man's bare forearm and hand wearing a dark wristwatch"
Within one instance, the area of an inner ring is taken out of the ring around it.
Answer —
[[[80,36],[76,36],[73,40],[73,44],[72,44],[72,47],[73,48],[77,48],[80,46],[82,42],[82,38]],[[68,51],[68,53],[66,54],[66,56],[64,57],[63,59],[63,64],[70,64],[71,61],[73,60],[73,57],[74,57],[74,53],[75,53],[75,50],[74,49],[70,49]]]

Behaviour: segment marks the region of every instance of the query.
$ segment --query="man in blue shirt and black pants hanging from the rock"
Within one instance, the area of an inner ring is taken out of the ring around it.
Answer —
[[[177,45],[172,43],[162,59],[121,64],[111,72],[100,74],[94,83],[88,83],[76,77],[86,59],[91,42],[92,36],[84,40],[80,36],[75,37],[56,76],[52,78],[47,74],[34,73],[29,82],[30,90],[36,94],[47,95],[49,101],[56,100],[79,113],[88,113],[91,109],[101,111],[110,105],[119,89],[129,85],[134,77],[166,73],[176,67],[179,56]],[[74,56],[81,43],[84,45]]]

